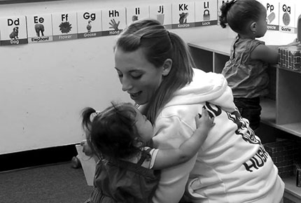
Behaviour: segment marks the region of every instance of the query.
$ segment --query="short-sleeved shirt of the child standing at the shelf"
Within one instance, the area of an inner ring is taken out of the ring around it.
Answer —
[[[222,74],[228,81],[234,97],[254,98],[268,93],[269,76],[266,62],[251,59],[251,52],[263,41],[237,36],[231,47],[230,60]]]

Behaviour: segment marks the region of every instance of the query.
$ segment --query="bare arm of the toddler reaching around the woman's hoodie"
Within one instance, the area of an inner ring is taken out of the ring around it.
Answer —
[[[207,139],[208,132],[214,126],[214,118],[210,118],[207,109],[202,109],[202,116],[195,116],[197,130],[179,146],[179,148],[162,149],[158,151],[153,169],[165,169],[187,162],[197,153]]]

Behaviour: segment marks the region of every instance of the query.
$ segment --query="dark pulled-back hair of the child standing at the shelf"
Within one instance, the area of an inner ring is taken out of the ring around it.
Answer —
[[[245,34],[250,22],[259,20],[262,4],[256,0],[232,0],[223,3],[219,21],[221,27],[226,24],[238,34]]]

